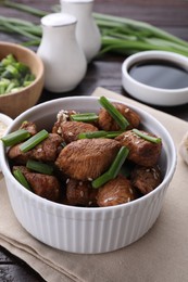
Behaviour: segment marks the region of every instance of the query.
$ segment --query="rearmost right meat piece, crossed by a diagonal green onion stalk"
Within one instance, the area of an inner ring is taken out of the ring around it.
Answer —
[[[139,126],[140,117],[136,112],[122,103],[112,104],[128,120],[129,126],[127,127],[127,129],[137,128]],[[114,121],[111,115],[103,107],[99,112],[99,127],[106,131],[120,130],[120,126],[116,124],[116,121]]]

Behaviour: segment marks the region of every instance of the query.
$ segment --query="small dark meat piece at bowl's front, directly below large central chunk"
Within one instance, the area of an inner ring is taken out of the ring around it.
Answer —
[[[96,206],[98,190],[92,189],[89,181],[68,178],[66,181],[66,198],[70,205]]]

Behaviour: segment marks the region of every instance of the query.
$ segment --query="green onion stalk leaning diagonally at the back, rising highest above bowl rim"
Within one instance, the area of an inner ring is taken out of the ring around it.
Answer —
[[[122,130],[125,130],[129,125],[128,120],[118,112],[118,110],[105,98],[99,99],[100,104],[108,111],[113,117]]]

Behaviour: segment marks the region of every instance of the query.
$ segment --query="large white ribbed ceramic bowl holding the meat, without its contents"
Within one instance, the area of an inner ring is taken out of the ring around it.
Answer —
[[[48,129],[62,108],[98,112],[99,107],[98,98],[72,97],[53,100],[21,114],[9,131],[17,129],[23,120],[33,120],[39,129]],[[127,246],[153,226],[175,171],[176,151],[171,136],[156,119],[140,108],[130,107],[141,116],[146,129],[163,140],[160,163],[164,179],[154,191],[127,204],[87,208],[57,204],[39,197],[14,179],[1,144],[1,167],[12,208],[21,225],[36,239],[59,249],[97,254]]]

